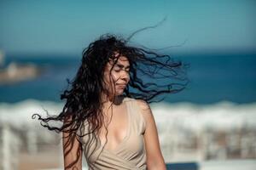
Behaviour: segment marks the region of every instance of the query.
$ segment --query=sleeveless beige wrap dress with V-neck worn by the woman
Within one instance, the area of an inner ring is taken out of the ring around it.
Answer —
[[[105,149],[100,139],[92,133],[79,138],[90,170],[147,169],[143,140],[145,132],[143,115],[139,112],[140,108],[136,99],[126,97],[124,102],[128,113],[128,129],[125,138],[114,150]],[[88,133],[88,129],[88,122],[84,122],[84,127],[79,129],[78,134]]]

